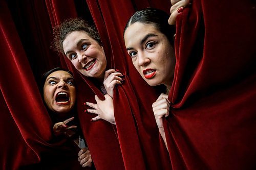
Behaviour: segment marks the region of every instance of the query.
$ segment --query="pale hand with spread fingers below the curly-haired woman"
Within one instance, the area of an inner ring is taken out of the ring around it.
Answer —
[[[95,95],[95,100],[97,104],[87,102],[86,104],[94,109],[87,109],[86,112],[98,114],[98,116],[92,118],[93,121],[96,121],[98,119],[104,119],[111,124],[116,125],[114,117],[113,99],[108,94],[105,94],[104,96],[105,100],[102,101],[98,98],[97,95]]]

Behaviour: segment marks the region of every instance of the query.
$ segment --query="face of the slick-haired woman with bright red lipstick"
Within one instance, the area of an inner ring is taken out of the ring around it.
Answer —
[[[135,68],[147,84],[172,85],[175,54],[164,34],[153,24],[135,22],[126,29],[124,41]]]

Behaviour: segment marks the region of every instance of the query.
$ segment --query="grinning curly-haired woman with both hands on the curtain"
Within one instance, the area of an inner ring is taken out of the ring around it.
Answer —
[[[95,28],[85,20],[75,18],[62,22],[54,28],[55,50],[64,54],[84,76],[93,78],[93,82],[105,94],[105,101],[101,101],[95,96],[97,104],[87,103],[94,109],[87,112],[98,114],[92,120],[105,119],[111,124],[115,124],[113,113],[113,89],[116,84],[122,84],[123,75],[115,69],[106,70],[106,56]],[[111,98],[110,98],[111,97]],[[102,107],[99,106],[102,104]],[[99,106],[99,107],[98,107]],[[102,109],[109,107],[108,112],[103,113]]]

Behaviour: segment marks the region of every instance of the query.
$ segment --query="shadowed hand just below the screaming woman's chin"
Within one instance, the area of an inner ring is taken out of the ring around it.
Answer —
[[[58,122],[56,124],[54,124],[53,126],[53,133],[55,136],[59,136],[61,134],[65,134],[68,137],[73,136],[75,133],[72,131],[72,129],[77,128],[77,126],[67,126],[66,124],[68,124],[71,120],[73,120],[74,117],[68,118],[67,120],[64,120],[63,122]]]

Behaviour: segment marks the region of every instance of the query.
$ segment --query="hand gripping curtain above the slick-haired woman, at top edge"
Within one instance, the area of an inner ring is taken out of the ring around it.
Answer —
[[[189,0],[170,0],[172,7],[170,7],[170,17],[168,19],[169,25],[175,25],[176,17],[179,15],[183,9],[190,5]]]

